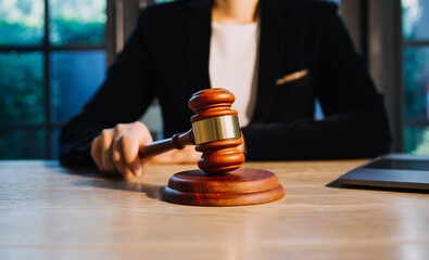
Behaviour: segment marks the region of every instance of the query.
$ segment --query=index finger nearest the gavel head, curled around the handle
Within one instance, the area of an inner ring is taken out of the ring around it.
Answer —
[[[152,135],[141,122],[137,122],[122,138],[125,165],[135,176],[141,173],[142,165],[147,161],[139,157],[140,147],[150,142],[152,142]]]

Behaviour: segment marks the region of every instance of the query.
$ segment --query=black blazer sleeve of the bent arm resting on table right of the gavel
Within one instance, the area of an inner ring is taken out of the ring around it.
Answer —
[[[317,51],[315,93],[325,119],[255,123],[242,129],[248,159],[375,157],[391,144],[379,94],[338,15],[331,15]]]

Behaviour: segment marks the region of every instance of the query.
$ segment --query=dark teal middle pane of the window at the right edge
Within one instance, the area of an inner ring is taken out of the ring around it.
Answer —
[[[404,51],[405,115],[429,119],[429,48]]]

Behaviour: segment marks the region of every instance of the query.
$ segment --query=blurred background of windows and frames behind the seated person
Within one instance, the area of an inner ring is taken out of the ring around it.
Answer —
[[[163,2],[0,0],[0,159],[55,159],[59,129],[104,80],[138,10]],[[386,96],[392,151],[429,154],[429,0],[333,2]],[[160,118],[155,102],[141,119],[155,138]]]

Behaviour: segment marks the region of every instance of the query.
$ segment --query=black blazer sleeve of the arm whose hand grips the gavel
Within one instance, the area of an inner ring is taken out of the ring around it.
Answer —
[[[96,95],[61,129],[59,157],[63,165],[92,166],[93,138],[116,123],[138,120],[150,105],[154,90],[150,88],[150,57],[141,32],[142,17]]]

